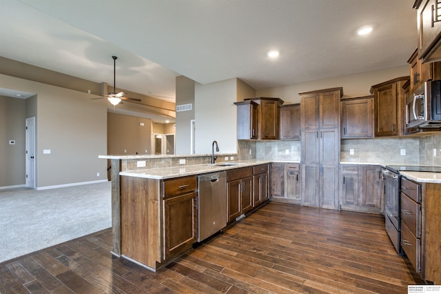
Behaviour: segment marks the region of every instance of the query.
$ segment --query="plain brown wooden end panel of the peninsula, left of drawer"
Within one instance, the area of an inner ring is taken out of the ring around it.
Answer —
[[[160,181],[121,177],[121,255],[156,268],[161,262]]]

